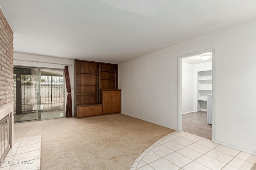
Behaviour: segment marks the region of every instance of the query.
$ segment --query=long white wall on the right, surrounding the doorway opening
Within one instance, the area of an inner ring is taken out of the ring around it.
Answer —
[[[122,113],[177,129],[178,56],[214,47],[212,138],[256,153],[255,30],[253,19],[119,64]]]

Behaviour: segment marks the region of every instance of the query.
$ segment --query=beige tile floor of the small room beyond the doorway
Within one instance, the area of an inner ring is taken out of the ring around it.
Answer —
[[[212,125],[207,123],[206,111],[183,114],[182,131],[212,139]]]

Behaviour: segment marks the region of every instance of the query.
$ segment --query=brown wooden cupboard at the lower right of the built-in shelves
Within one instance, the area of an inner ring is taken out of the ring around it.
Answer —
[[[121,90],[100,90],[103,114],[121,112]]]

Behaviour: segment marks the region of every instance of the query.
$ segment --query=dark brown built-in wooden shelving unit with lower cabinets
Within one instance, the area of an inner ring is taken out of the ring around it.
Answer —
[[[121,104],[121,96],[120,98],[116,98],[116,100],[113,100],[113,97],[109,99],[105,97],[105,100],[100,100],[100,96],[102,96],[100,95],[102,93],[100,90],[117,90],[117,88],[118,64],[74,60],[75,117],[102,114],[104,109],[106,109],[104,106],[110,106],[110,104],[104,104],[102,106],[102,101],[112,101]],[[112,110],[115,112],[108,111],[108,113],[121,112],[121,105],[120,109],[116,104],[111,105],[114,107]]]

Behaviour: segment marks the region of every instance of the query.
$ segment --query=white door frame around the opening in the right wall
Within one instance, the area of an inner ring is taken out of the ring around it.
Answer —
[[[215,141],[215,48],[178,56],[178,131],[182,131],[182,58],[212,52],[212,141]]]

